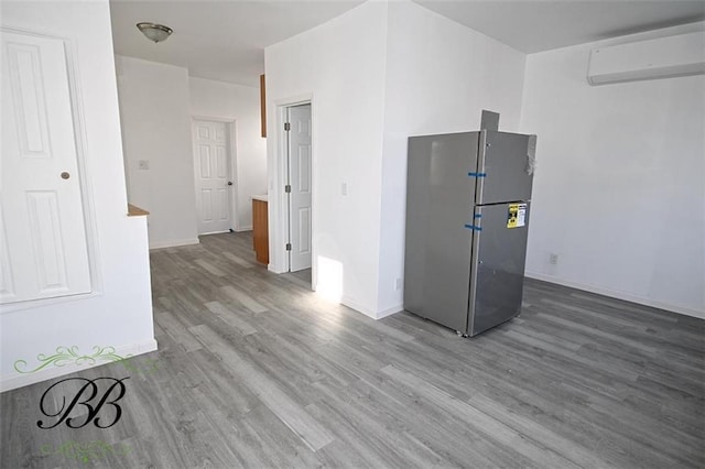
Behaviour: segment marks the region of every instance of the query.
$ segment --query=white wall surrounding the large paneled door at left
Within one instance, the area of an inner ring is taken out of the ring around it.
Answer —
[[[112,346],[118,353],[156,348],[144,217],[127,217],[122,145],[118,118],[110,12],[107,1],[2,2],[3,26],[65,37],[75,62],[69,69],[79,89],[83,114],[80,140],[89,185],[89,225],[95,231],[95,295],[0,313],[0,389],[11,389],[75,371],[50,367],[22,375],[15,360],[39,364],[37,355],[59,346],[93,353],[95,346]],[[100,362],[98,363],[100,364]]]

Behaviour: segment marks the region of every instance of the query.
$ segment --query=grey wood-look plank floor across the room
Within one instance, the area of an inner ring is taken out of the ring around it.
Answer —
[[[463,339],[327,303],[249,233],[151,262],[159,351],[76,374],[130,377],[119,422],[40,429],[58,380],[6,392],[2,468],[705,467],[702,320],[528,281]]]

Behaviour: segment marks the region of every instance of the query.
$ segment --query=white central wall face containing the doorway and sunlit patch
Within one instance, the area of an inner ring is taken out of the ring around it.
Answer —
[[[364,3],[265,48],[270,269],[284,270],[278,105],[313,99],[313,274],[345,304],[377,313],[387,4]],[[341,195],[341,184],[347,195]]]

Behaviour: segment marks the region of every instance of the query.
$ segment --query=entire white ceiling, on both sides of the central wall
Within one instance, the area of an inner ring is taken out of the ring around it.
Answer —
[[[414,1],[525,53],[705,19],[705,1]],[[362,2],[111,0],[115,51],[186,67],[192,76],[257,86],[264,70],[264,47]],[[166,24],[174,34],[163,43],[151,43],[134,26],[141,21]]]

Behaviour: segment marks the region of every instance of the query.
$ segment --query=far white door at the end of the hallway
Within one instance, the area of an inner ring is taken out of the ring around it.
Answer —
[[[198,234],[229,231],[232,181],[227,126],[194,120],[193,133]]]

